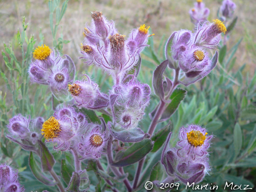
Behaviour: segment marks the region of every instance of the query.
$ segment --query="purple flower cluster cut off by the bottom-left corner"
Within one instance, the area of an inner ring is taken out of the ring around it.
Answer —
[[[23,192],[24,187],[18,182],[18,170],[6,164],[0,164],[0,191]]]

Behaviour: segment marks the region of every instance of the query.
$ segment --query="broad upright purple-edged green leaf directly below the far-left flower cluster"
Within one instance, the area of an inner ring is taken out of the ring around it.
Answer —
[[[49,152],[48,148],[45,144],[38,140],[38,144],[41,148],[41,163],[42,163],[42,170],[43,171],[51,171],[52,167],[55,164],[55,159],[53,155]]]

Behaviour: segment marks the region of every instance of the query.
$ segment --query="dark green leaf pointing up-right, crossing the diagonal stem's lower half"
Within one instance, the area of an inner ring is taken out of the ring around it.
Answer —
[[[160,129],[157,133],[155,133],[152,136],[151,140],[154,141],[154,147],[151,152],[156,152],[159,148],[162,147],[170,131],[171,131],[171,123],[169,121],[168,125]]]

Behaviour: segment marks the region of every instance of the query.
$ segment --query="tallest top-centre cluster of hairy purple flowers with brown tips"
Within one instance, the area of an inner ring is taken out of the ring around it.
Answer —
[[[93,11],[91,26],[84,28],[81,53],[85,63],[95,64],[113,76],[119,84],[139,59],[139,53],[147,44],[148,28],[145,25],[132,30],[129,39],[117,33],[113,21],[108,21],[101,12]]]

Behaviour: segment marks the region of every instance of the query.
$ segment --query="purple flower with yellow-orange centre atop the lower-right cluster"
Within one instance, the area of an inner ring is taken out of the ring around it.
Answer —
[[[210,147],[210,141],[213,135],[206,136],[206,129],[199,125],[188,125],[187,128],[181,127],[179,132],[179,141],[177,142],[177,155],[191,157],[207,156],[207,149]]]

